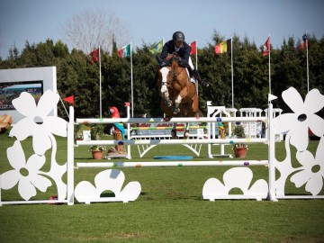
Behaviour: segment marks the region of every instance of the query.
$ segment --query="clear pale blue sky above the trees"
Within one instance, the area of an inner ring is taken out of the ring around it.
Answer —
[[[322,0],[1,0],[0,57],[7,58],[13,45],[22,50],[26,40],[63,40],[61,26],[86,9],[116,14],[129,25],[132,46],[139,48],[169,40],[175,31],[183,31],[188,43],[197,40],[198,48],[215,44],[214,31],[225,40],[234,34],[247,37],[257,46],[270,34],[275,49],[305,31],[318,40],[324,37]]]

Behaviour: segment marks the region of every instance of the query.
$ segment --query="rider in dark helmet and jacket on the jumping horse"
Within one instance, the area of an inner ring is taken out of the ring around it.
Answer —
[[[165,58],[167,54],[177,53],[179,58],[177,61],[182,67],[190,67],[193,72],[193,77],[199,82],[199,84],[208,86],[209,83],[205,80],[202,80],[200,77],[198,70],[193,67],[192,59],[190,58],[191,47],[184,41],[184,33],[182,31],[175,31],[172,36],[172,40],[166,42],[163,46],[160,58],[162,58],[163,62],[161,66],[171,65]]]

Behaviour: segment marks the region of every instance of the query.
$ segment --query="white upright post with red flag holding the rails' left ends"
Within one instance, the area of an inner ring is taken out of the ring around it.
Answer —
[[[67,123],[67,205],[74,204],[74,107],[69,107]]]

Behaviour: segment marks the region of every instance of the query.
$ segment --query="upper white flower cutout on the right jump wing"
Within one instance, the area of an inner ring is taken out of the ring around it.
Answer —
[[[308,146],[309,128],[318,137],[324,134],[324,120],[315,114],[324,106],[324,95],[312,89],[303,102],[301,94],[290,87],[283,92],[283,99],[293,113],[284,113],[275,118],[276,129],[280,132],[289,130],[292,133],[290,143],[298,151],[303,151]]]

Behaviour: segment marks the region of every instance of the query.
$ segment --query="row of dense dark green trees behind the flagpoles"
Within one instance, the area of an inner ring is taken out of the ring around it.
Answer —
[[[212,41],[224,40],[216,31]],[[103,117],[109,107],[116,106],[125,116],[124,103],[130,102],[130,58],[117,55],[113,41],[112,53],[101,53]],[[266,109],[269,92],[268,57],[263,57],[260,47],[245,37],[233,37],[233,90],[234,108],[255,107]],[[309,37],[310,90],[319,89],[324,94],[324,38]],[[198,69],[210,86],[199,86],[200,110],[206,114],[206,102],[217,106],[232,106],[230,53],[215,54],[214,44],[198,49]],[[193,55],[195,63],[195,55]],[[282,92],[293,86],[304,98],[307,94],[306,49],[296,51],[293,37],[284,40],[281,49],[271,49],[272,94],[278,96],[274,107],[290,112],[282,100]],[[147,113],[148,117],[161,117],[160,97],[157,90],[157,59],[149,52],[149,45],[132,50],[134,114]],[[67,44],[46,40],[38,44],[28,41],[20,51],[13,47],[6,59],[0,59],[0,68],[57,67],[58,94],[75,96],[76,117],[99,117],[99,64],[91,63],[89,53],[79,49],[69,51]],[[323,111],[321,111],[323,112]],[[61,104],[58,115],[67,117]]]

